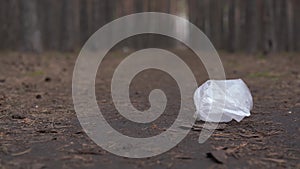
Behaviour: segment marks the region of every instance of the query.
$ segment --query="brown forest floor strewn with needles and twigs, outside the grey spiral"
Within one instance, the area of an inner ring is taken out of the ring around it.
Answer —
[[[199,85],[208,79],[204,67],[199,66],[200,60],[191,52],[174,53],[188,63]],[[96,96],[105,118],[127,135],[163,132],[178,111],[174,81],[154,70],[136,77],[130,92],[137,108],[149,107],[147,97],[153,86],[166,90],[171,106],[162,119],[148,126],[135,126],[119,118],[110,97],[110,79],[124,58],[121,55],[110,53],[98,71]],[[224,53],[220,57],[227,78],[242,78],[250,88],[254,99],[251,116],[240,123],[227,123],[204,144],[198,143],[200,131],[191,130],[180,144],[164,154],[129,159],[98,147],[79,124],[72,102],[77,54],[1,53],[0,169],[300,168],[299,54]]]

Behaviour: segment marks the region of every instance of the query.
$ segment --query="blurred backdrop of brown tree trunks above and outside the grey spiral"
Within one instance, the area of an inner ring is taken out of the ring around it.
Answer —
[[[106,23],[146,11],[189,19],[219,50],[300,51],[299,0],[1,0],[0,50],[76,51]],[[126,45],[151,43],[144,39]]]

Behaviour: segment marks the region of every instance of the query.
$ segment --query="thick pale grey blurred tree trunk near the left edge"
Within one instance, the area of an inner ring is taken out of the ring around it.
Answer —
[[[42,52],[41,31],[38,25],[36,0],[20,1],[22,44],[21,49]]]

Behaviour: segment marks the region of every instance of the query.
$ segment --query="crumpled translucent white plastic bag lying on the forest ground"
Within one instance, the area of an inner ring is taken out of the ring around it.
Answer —
[[[207,122],[240,122],[250,116],[253,100],[241,79],[208,80],[194,94],[197,120]]]

